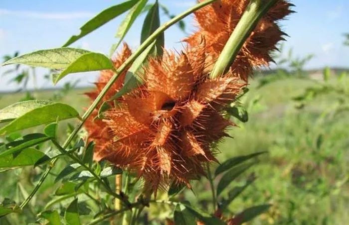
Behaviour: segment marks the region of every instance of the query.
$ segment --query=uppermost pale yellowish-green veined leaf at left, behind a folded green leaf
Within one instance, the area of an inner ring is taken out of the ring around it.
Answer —
[[[54,48],[39,50],[12,58],[2,66],[9,64],[25,64],[28,66],[46,67],[50,69],[64,69],[81,55],[89,51],[78,48]]]

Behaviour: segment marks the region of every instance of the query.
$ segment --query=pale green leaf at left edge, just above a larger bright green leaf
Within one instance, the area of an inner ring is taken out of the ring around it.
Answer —
[[[0,110],[0,123],[8,122],[36,108],[52,104],[51,101],[33,100],[19,102]]]

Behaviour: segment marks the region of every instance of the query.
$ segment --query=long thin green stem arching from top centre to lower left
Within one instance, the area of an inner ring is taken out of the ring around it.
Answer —
[[[119,75],[128,67],[131,65],[131,63],[150,45],[157,39],[157,37],[164,32],[166,29],[168,29],[170,26],[174,25],[179,20],[183,19],[187,15],[191,14],[193,11],[196,11],[216,0],[205,0],[203,2],[200,2],[193,7],[189,8],[188,10],[180,13],[179,15],[175,16],[173,19],[169,20],[168,22],[164,23],[161,27],[159,27],[157,30],[154,31],[152,35],[150,35],[144,42],[141,44],[141,46],[135,51],[115,72],[114,76],[109,80],[109,82],[106,84],[106,86],[103,88],[101,93],[97,96],[95,101],[91,104],[91,106],[88,108],[88,110],[83,114],[81,121],[76,125],[73,132],[68,136],[66,141],[63,144],[63,149],[66,149],[70,142],[74,139],[75,135],[79,132],[79,130],[82,128],[84,122],[87,120],[87,118],[91,115],[91,113],[97,108],[98,104],[102,101],[103,97],[106,95],[108,90],[112,87],[112,85],[115,83],[116,79],[119,77]],[[20,205],[20,208],[23,209],[28,202],[32,199],[32,197],[35,195],[37,190],[40,188],[44,180],[46,179],[47,175],[55,165],[58,158],[54,158],[50,161],[49,167],[46,168],[44,171],[42,177],[40,178],[39,182],[33,189],[33,191],[30,193],[28,198],[24,200],[24,202]],[[121,210],[120,210],[121,211]]]

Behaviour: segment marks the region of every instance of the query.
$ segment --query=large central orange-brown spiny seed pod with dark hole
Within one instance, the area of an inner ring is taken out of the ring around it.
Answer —
[[[151,191],[173,182],[189,186],[203,175],[205,164],[216,160],[212,143],[233,125],[221,112],[243,85],[229,74],[208,79],[204,48],[201,41],[177,56],[150,59],[144,84],[105,113],[114,142],[99,158],[143,177]]]

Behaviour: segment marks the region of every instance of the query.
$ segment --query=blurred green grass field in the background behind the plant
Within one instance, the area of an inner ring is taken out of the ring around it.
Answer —
[[[303,109],[297,109],[292,98],[300,95],[313,81],[288,78],[257,89],[259,78],[252,81],[243,100],[249,105],[249,121],[238,122],[230,135],[219,144],[220,161],[257,151],[269,153],[260,157],[250,169],[257,180],[229,206],[231,212],[256,204],[270,203],[271,210],[252,224],[338,225],[349,221],[349,113],[331,113],[336,95],[317,98]],[[83,112],[88,100],[77,89],[61,102]],[[0,108],[15,103],[24,94],[0,96]],[[51,91],[33,93],[37,99],[49,99]],[[326,113],[325,113],[326,112]],[[23,175],[23,174],[18,174]],[[248,173],[242,176],[243,182]],[[241,183],[242,184],[242,183]],[[49,182],[48,182],[49,185]],[[185,192],[189,201],[200,201],[204,207],[210,198],[207,188],[193,185]],[[1,188],[0,196],[10,193]],[[45,193],[49,197],[49,193]],[[39,201],[39,200],[38,200]],[[1,222],[1,221],[0,221]],[[1,223],[0,223],[1,224]]]

